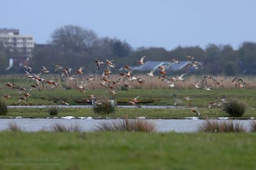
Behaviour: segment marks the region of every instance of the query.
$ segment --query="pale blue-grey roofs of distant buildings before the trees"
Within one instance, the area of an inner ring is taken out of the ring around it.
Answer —
[[[164,64],[170,64],[170,61],[147,61],[145,62],[145,64],[141,66],[131,66],[131,67],[133,70],[137,70],[137,71],[151,71],[153,69],[157,69],[158,66],[162,66]],[[168,67],[167,71],[180,71],[184,69],[186,66],[189,66],[189,64],[191,64],[190,61],[180,61],[179,63],[173,63],[172,67]],[[119,71],[122,71],[122,69],[123,68],[121,67]]]

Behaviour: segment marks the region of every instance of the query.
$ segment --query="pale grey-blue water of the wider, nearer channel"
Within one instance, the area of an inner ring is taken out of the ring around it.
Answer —
[[[118,121],[115,120],[97,120],[92,118],[81,118],[81,119],[65,119],[65,118],[2,118],[0,119],[0,131],[8,129],[8,124],[10,122],[15,122],[20,125],[22,131],[49,131],[54,123],[61,124],[79,124],[82,131],[93,131],[93,127],[100,122],[106,121]],[[202,124],[204,120],[198,120],[196,118],[191,120],[177,120],[177,119],[149,119],[148,121],[155,122],[157,125],[157,132],[196,132],[198,130],[198,125]],[[226,120],[217,120],[226,121]],[[243,124],[246,129],[249,129],[251,120],[234,120],[234,122],[239,122]]]

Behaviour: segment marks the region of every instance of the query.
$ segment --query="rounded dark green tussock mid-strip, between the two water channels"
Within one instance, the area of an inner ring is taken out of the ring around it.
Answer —
[[[97,102],[101,104],[93,104],[93,111],[96,114],[106,115],[108,113],[115,113],[116,104],[109,99],[99,99]]]

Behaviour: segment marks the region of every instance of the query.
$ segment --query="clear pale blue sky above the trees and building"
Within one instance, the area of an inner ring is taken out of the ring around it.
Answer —
[[[133,48],[202,48],[256,41],[254,0],[1,0],[1,28],[15,28],[36,43],[51,41],[63,25],[91,29]]]

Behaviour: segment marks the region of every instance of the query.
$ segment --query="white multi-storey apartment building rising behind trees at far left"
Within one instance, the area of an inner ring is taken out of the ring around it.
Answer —
[[[10,52],[19,52],[26,57],[32,57],[35,47],[33,36],[22,36],[19,29],[0,29],[0,43]]]

